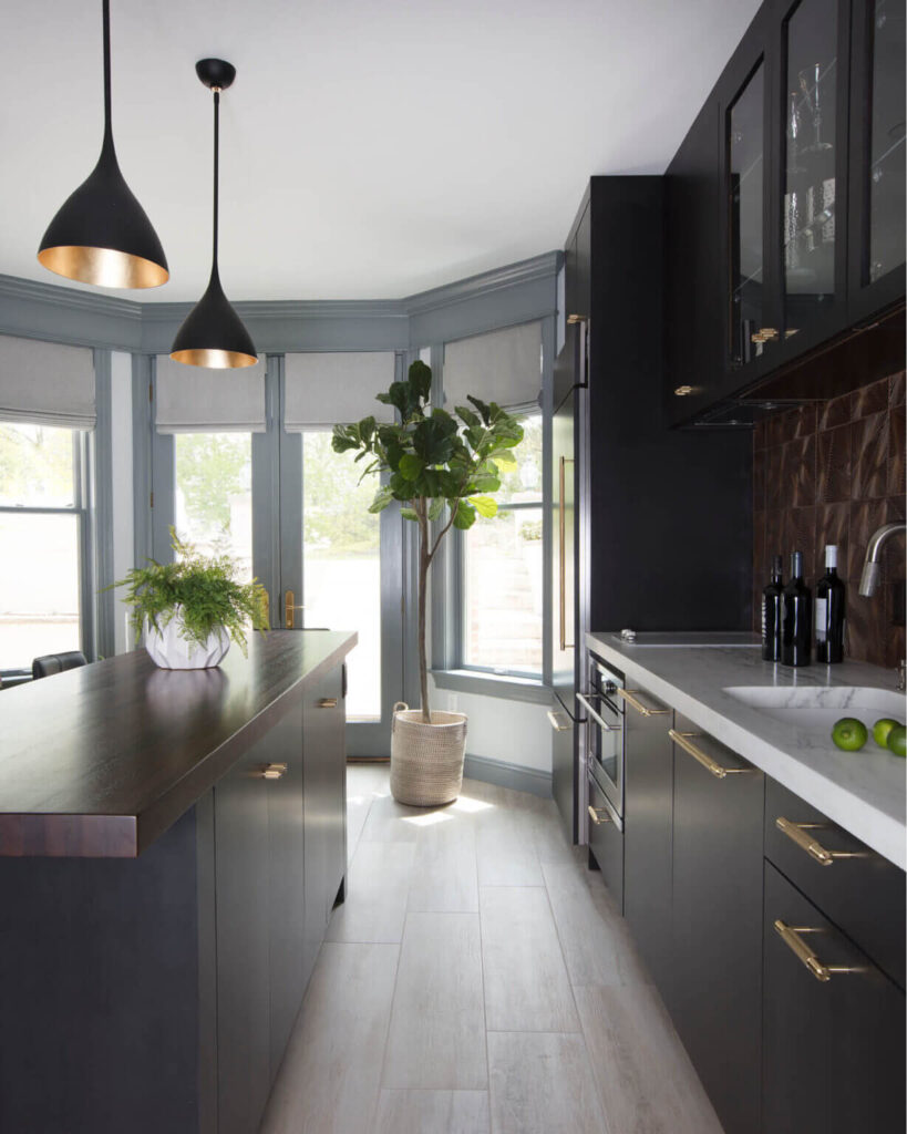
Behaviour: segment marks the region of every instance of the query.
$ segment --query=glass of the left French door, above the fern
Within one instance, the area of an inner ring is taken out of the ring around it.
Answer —
[[[177,433],[176,528],[204,555],[252,578],[252,434]]]

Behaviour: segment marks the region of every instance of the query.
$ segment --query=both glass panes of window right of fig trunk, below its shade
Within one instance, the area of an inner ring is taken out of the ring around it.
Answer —
[[[520,418],[517,468],[497,494],[494,519],[463,533],[465,669],[542,676],[542,415]]]

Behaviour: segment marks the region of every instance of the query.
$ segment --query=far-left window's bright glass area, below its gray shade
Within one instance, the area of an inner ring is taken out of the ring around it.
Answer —
[[[84,458],[80,431],[0,422],[0,670],[90,652]]]

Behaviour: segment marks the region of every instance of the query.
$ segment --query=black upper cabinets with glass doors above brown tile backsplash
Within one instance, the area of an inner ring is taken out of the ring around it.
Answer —
[[[783,398],[779,373],[902,307],[904,11],[766,0],[669,167],[672,423],[758,397],[769,379],[766,396]],[[804,389],[789,396],[839,392]]]

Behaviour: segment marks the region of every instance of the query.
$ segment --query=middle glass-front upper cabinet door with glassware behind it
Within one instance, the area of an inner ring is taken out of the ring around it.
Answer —
[[[788,6],[781,24],[786,339],[821,335],[845,295],[847,37],[841,9],[846,18],[847,6],[837,0],[799,0]]]

